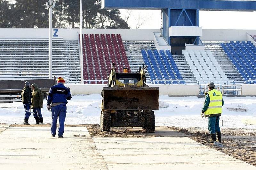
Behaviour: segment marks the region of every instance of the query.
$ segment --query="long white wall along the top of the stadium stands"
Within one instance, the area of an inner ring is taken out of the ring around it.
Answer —
[[[55,29],[55,28],[53,28]],[[58,37],[64,40],[77,40],[80,29],[58,29]],[[48,38],[47,28],[0,28],[0,38]],[[153,32],[158,29],[83,29],[84,34],[121,34],[123,40],[153,41]],[[246,32],[256,35],[256,30],[203,30],[202,41],[246,41]],[[52,31],[54,34],[54,31]]]

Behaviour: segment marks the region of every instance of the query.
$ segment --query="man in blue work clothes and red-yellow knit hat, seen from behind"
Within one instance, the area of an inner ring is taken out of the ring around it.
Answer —
[[[50,88],[49,94],[47,97],[47,109],[51,111],[52,109],[52,127],[51,133],[52,137],[55,137],[56,134],[56,124],[57,118],[59,117],[59,129],[58,136],[59,138],[63,138],[64,133],[64,122],[66,119],[67,113],[67,100],[71,99],[71,94],[69,88],[64,86],[65,80],[61,77],[57,80],[57,85],[54,85]],[[52,105],[51,105],[52,103]]]

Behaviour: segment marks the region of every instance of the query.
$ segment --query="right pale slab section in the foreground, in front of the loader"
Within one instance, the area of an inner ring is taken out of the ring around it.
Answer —
[[[187,137],[93,138],[108,169],[256,169]]]

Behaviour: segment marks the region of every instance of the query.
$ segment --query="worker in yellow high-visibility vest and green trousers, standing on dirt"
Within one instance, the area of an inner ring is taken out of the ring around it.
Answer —
[[[209,91],[205,94],[205,101],[201,111],[201,117],[208,117],[208,130],[211,134],[212,143],[214,145],[221,146],[219,122],[224,101],[222,99],[221,92],[215,89],[213,82],[209,82],[207,87]],[[216,142],[216,133],[220,143]]]

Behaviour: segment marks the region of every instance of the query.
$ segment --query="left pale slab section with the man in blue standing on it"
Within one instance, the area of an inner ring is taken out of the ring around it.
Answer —
[[[85,134],[86,138],[73,135]],[[65,127],[52,138],[49,127],[9,127],[0,135],[0,169],[107,169],[86,127]]]

